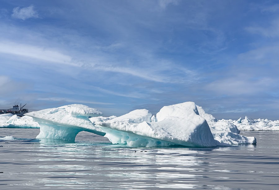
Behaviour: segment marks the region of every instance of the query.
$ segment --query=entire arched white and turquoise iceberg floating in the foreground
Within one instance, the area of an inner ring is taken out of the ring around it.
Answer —
[[[193,102],[165,106],[156,117],[146,109],[120,117],[102,117],[100,111],[81,104],[25,115],[39,123],[40,139],[74,141],[80,131],[88,131],[107,137],[113,144],[128,146],[215,147],[256,143],[255,137],[239,135],[235,125],[216,122]]]

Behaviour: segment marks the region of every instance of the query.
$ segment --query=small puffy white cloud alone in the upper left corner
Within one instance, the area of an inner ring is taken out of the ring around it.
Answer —
[[[11,16],[13,18],[22,19],[22,20],[39,17],[37,11],[34,10],[33,5],[21,9],[20,7],[15,7],[13,9],[13,14]]]

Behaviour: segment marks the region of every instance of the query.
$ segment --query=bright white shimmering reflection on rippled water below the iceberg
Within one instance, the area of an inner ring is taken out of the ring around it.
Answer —
[[[195,166],[205,164],[207,159],[202,157],[207,152],[203,149],[181,147],[139,149],[63,142],[41,142],[38,147],[40,156],[31,159],[37,163],[32,167],[41,170],[44,177],[37,183],[45,186],[56,186],[63,181],[66,186],[74,182],[80,187],[90,184],[103,188],[105,178],[112,189],[119,186],[189,189],[195,188],[198,179],[204,177],[193,172],[198,170]]]

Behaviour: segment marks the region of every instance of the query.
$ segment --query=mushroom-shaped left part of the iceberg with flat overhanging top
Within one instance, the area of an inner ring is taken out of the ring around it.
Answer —
[[[40,125],[40,133],[36,138],[74,141],[76,135],[81,131],[104,136],[105,133],[96,128],[88,118],[102,114],[95,108],[89,108],[82,104],[71,104],[29,112],[25,115],[33,117],[33,120]]]

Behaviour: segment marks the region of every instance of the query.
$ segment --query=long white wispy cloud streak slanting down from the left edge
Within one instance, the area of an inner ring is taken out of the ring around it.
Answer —
[[[127,74],[133,77],[141,78],[148,81],[162,82],[162,83],[181,83],[189,82],[193,79],[198,79],[193,77],[197,73],[193,70],[188,70],[181,67],[176,72],[182,74],[182,77],[173,77],[170,75],[175,75],[172,68],[178,67],[173,63],[164,63],[163,60],[150,60],[150,65],[142,67],[129,66],[125,67],[121,63],[110,64],[107,60],[107,54],[102,54],[102,56],[92,57],[96,62],[86,64],[88,61],[73,61],[73,57],[61,53],[57,49],[45,48],[40,46],[34,46],[23,43],[15,43],[11,41],[0,41],[0,53],[10,54],[15,56],[27,57],[30,59],[37,59],[41,61],[59,63],[62,65],[71,65],[76,67],[83,67],[83,69],[100,70],[105,72],[113,72],[119,74]],[[92,59],[90,56],[89,59]],[[153,68],[152,65],[157,65],[161,63],[160,67]]]

